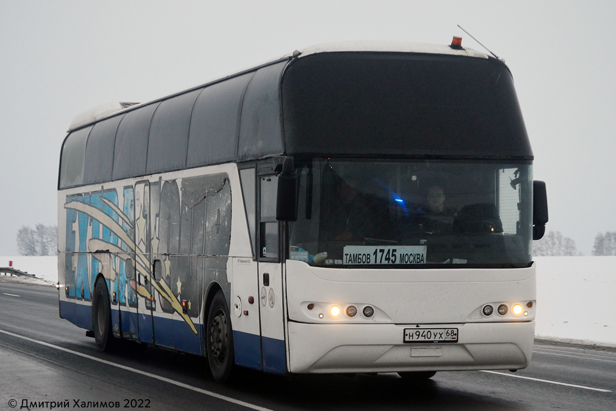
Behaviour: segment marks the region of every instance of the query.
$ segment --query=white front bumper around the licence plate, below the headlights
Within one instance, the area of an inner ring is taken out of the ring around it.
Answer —
[[[456,343],[403,343],[396,324],[290,322],[292,373],[513,370],[529,365],[535,322],[421,325],[458,328]]]

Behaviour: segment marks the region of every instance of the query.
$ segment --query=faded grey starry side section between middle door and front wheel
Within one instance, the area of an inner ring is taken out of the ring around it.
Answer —
[[[182,174],[150,184],[152,259],[161,261],[152,291],[154,338],[203,354],[204,288],[216,283],[230,304],[231,189],[227,173]]]

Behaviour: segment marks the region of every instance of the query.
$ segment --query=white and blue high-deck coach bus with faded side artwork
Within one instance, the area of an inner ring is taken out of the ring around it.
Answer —
[[[545,184],[509,69],[336,43],[75,118],[60,317],[269,373],[527,367]]]

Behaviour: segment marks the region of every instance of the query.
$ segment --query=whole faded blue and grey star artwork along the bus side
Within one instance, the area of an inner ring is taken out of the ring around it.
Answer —
[[[140,296],[149,308],[156,293],[160,306],[153,311],[180,315],[197,334],[192,318],[200,312],[204,277],[227,288],[231,195],[226,174],[70,195],[64,208],[67,283],[74,275],[83,299],[90,298],[101,273],[120,291],[118,304],[136,307]],[[162,262],[158,280],[150,258]],[[144,287],[147,283],[153,289]]]

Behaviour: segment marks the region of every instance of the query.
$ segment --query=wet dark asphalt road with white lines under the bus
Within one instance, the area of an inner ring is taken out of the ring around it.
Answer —
[[[535,346],[525,370],[439,372],[419,385],[396,374],[246,371],[220,385],[197,356],[132,344],[99,352],[84,330],[59,318],[55,288],[0,282],[0,411],[20,409],[24,400],[36,403],[31,409],[51,409],[52,402],[109,409],[100,405],[110,402],[152,410],[613,411],[616,352]]]

